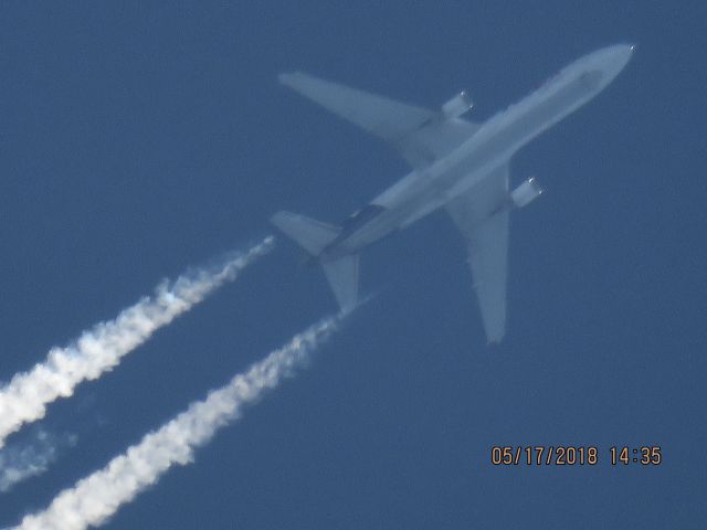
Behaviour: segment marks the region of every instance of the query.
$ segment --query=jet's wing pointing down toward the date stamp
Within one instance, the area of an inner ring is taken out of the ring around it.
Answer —
[[[508,165],[445,205],[466,240],[468,264],[488,342],[506,328],[508,268]]]

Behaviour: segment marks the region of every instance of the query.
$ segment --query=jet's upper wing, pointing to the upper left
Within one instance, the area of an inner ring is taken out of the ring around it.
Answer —
[[[282,84],[390,142],[413,168],[444,157],[478,129],[461,118],[395,102],[302,72],[281,74]]]

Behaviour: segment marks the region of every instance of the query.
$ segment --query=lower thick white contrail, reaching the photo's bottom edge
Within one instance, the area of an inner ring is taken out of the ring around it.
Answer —
[[[209,442],[219,427],[238,418],[244,405],[254,403],[292,374],[337,328],[340,318],[321,320],[296,335],[225,386],[211,391],[205,400],[192,403],[158,431],[148,433],[106,467],[60,492],[45,511],[24,517],[15,529],[83,530],[106,522],[172,465],[192,462],[197,447]]]

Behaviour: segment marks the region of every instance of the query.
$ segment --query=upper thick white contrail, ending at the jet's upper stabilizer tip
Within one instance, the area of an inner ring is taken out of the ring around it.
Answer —
[[[218,266],[183,274],[171,285],[162,282],[155,295],[144,297],[115,320],[94,326],[65,348],[52,348],[44,362],[14,375],[0,388],[0,447],[22,424],[43,417],[49,403],[70,396],[82,381],[113,369],[157,329],[234,279],[273,244],[274,239],[267,236],[245,253],[229,254]]]

